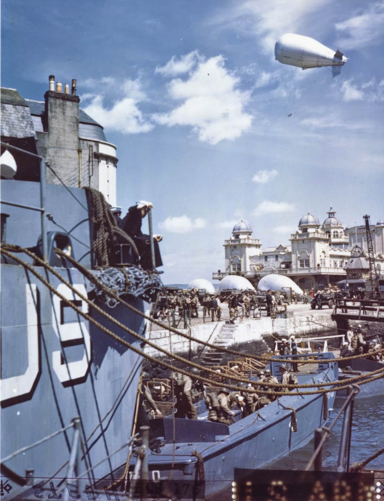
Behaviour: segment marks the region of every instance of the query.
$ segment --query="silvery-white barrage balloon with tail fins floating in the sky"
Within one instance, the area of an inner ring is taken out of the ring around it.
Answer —
[[[275,44],[275,59],[282,64],[307,68],[332,66],[332,76],[341,72],[347,58],[339,50],[336,52],[317,40],[303,35],[286,33]]]

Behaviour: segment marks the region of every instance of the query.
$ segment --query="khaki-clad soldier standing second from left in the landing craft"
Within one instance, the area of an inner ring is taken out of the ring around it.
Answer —
[[[199,392],[206,397],[205,388],[199,382],[200,371],[196,367],[191,368],[191,376],[173,373],[172,377],[176,382],[175,394],[177,396],[175,417],[184,419],[197,419],[197,412],[193,405],[193,398]]]

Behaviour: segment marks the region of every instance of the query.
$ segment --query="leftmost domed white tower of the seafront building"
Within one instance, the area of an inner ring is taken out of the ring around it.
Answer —
[[[253,238],[251,225],[240,219],[233,226],[232,236],[225,240],[225,274],[215,276],[214,279],[222,279],[230,273],[241,273],[241,275],[251,275],[250,260],[251,256],[260,255],[261,243],[258,238]]]

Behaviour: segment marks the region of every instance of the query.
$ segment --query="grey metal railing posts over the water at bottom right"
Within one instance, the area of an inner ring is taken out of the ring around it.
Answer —
[[[347,397],[341,406],[340,410],[337,412],[335,418],[329,426],[323,426],[322,428],[316,428],[314,434],[314,452],[310,458],[308,464],[305,467],[305,471],[309,471],[313,465],[313,469],[317,471],[322,470],[322,450],[324,443],[328,439],[333,426],[339,419],[341,414],[344,412],[339,452],[337,458],[337,471],[343,472],[349,470],[349,454],[350,454],[350,440],[352,431],[352,416],[353,416],[353,401],[360,388],[357,385],[348,386]]]

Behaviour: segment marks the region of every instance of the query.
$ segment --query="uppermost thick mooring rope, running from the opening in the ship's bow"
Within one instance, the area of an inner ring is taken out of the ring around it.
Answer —
[[[7,244],[9,245],[9,244]],[[15,250],[15,252],[17,252]],[[95,285],[97,285],[98,287],[100,287],[101,289],[103,289],[104,292],[106,292],[109,296],[111,296],[112,298],[116,299],[116,301],[118,301],[119,303],[121,303],[123,306],[125,306],[126,308],[128,308],[129,310],[137,313],[138,315],[142,316],[143,318],[145,318],[146,320],[149,320],[151,323],[154,323],[156,325],[158,325],[159,327],[163,327],[165,330],[168,330],[170,332],[173,332],[174,334],[177,334],[179,336],[182,336],[186,339],[191,339],[192,341],[196,342],[196,343],[199,343],[199,344],[202,344],[204,346],[207,346],[208,348],[213,348],[215,350],[218,350],[218,351],[221,351],[223,353],[229,353],[231,355],[236,355],[236,356],[241,356],[243,357],[245,354],[244,353],[241,353],[241,352],[238,352],[238,351],[235,351],[235,350],[231,350],[230,348],[224,348],[224,347],[219,347],[219,346],[216,346],[212,343],[208,343],[206,341],[202,341],[200,339],[197,339],[197,338],[194,338],[192,336],[189,336],[188,334],[185,334],[184,332],[182,331],[178,331],[177,329],[173,328],[173,327],[170,327],[166,324],[163,324],[162,322],[156,320],[156,319],[153,319],[152,317],[149,317],[147,315],[145,315],[143,312],[141,312],[140,310],[138,310],[137,308],[135,308],[134,306],[130,305],[129,303],[127,303],[126,301],[124,301],[122,298],[120,298],[119,296],[117,296],[113,291],[111,291],[110,289],[108,289],[102,282],[100,282],[87,268],[83,267],[80,263],[78,263],[76,260],[74,260],[71,256],[67,256],[61,249],[58,249],[56,248],[55,249],[55,252],[57,254],[59,254],[60,256],[62,256],[63,258],[67,259],[71,264],[73,264],[79,271],[81,271],[84,275],[87,276],[87,278]],[[373,354],[375,353],[380,353],[381,351],[384,351],[384,349],[382,350],[377,350],[375,352],[373,352]],[[268,362],[271,357],[273,357],[274,355],[264,355],[264,356],[257,356],[257,355],[253,355],[253,354],[246,354],[246,356],[248,358],[252,358],[252,359],[255,359],[255,360],[260,360],[262,362]],[[357,358],[365,358],[367,356],[367,354],[362,354],[362,355],[353,355],[351,357],[345,357],[343,358],[343,360],[355,360]],[[281,362],[292,362],[291,359],[279,359]],[[305,362],[300,362],[300,360],[297,360],[297,363],[300,365],[306,365],[306,364],[310,364],[310,363],[316,363],[317,362],[317,359],[306,359]]]

